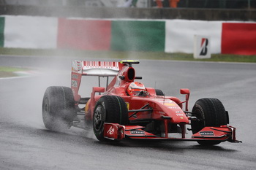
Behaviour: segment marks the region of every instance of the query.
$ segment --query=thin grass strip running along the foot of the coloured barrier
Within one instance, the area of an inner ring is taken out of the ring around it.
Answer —
[[[0,47],[0,55],[59,56],[75,58],[119,58],[151,59],[175,61],[222,61],[256,63],[256,55],[212,54],[208,59],[195,59],[193,54],[163,52],[120,52],[120,51],[87,51],[87,50],[42,50]]]

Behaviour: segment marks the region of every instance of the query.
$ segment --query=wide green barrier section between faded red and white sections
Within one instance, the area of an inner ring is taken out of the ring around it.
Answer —
[[[111,27],[111,50],[165,51],[164,21],[115,20]]]

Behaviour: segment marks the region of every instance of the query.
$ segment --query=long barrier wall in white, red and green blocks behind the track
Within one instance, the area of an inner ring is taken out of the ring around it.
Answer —
[[[256,54],[256,22],[0,16],[0,47],[193,53],[195,35],[211,53]]]

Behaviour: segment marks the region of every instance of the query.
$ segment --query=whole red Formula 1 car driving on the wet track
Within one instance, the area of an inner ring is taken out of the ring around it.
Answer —
[[[71,88],[51,86],[42,101],[42,119],[52,131],[71,126],[92,127],[99,141],[129,139],[196,141],[202,145],[239,142],[228,112],[217,98],[201,98],[188,110],[189,89],[181,89],[185,101],[165,96],[162,90],[145,88],[135,80],[133,64],[139,61],[73,61]],[[91,96],[79,93],[83,76],[99,77]],[[106,77],[106,87],[100,87]],[[108,83],[109,77],[113,80]],[[85,107],[80,107],[80,105]],[[183,106],[184,105],[184,106]],[[186,128],[189,125],[191,128]],[[187,137],[187,131],[192,136]]]

